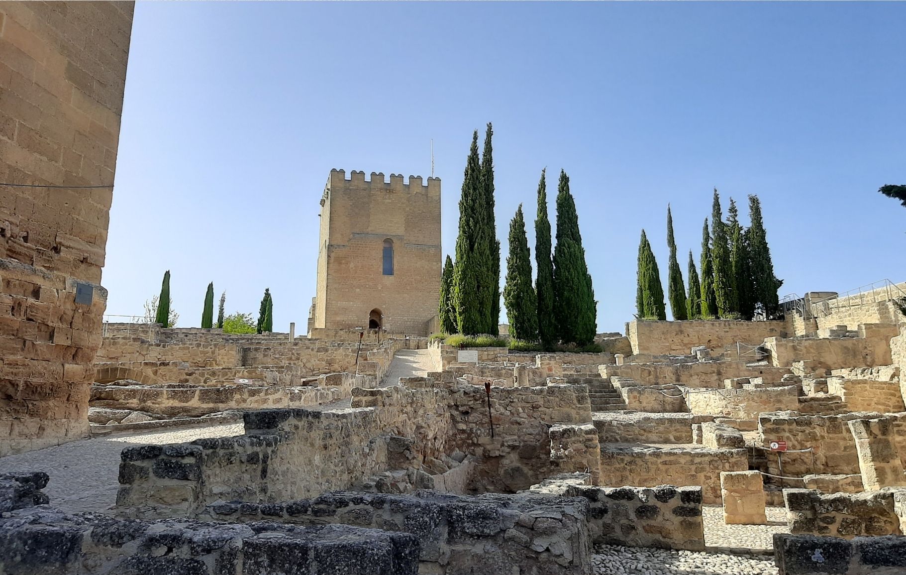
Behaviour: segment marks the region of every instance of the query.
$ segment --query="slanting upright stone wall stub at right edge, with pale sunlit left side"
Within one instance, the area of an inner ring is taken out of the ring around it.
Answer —
[[[849,422],[849,427],[855,439],[865,491],[906,485],[900,455],[893,443],[892,418],[855,419]]]

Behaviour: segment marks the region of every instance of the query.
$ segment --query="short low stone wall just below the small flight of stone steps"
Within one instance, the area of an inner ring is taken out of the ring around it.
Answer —
[[[692,414],[595,412],[601,443],[692,443]]]

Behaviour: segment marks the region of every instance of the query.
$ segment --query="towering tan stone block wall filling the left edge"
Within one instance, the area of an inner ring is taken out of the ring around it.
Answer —
[[[0,190],[3,456],[88,434],[132,3],[10,2],[0,21],[0,179],[110,186]]]

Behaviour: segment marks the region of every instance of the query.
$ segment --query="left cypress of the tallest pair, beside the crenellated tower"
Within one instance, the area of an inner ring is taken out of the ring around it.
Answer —
[[[478,161],[478,131],[472,134],[466,171],[459,198],[459,233],[456,240],[456,264],[453,267],[453,307],[456,308],[457,329],[461,334],[475,336],[487,325],[484,286],[487,276],[482,232],[481,166]]]

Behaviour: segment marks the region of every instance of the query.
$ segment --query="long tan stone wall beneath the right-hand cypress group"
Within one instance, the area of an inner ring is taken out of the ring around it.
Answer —
[[[652,321],[635,319],[626,324],[633,354],[685,355],[697,346],[718,350],[742,342],[760,345],[766,337],[786,336],[783,321],[689,320]]]

